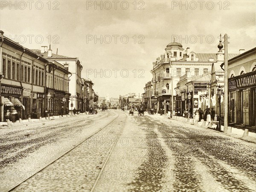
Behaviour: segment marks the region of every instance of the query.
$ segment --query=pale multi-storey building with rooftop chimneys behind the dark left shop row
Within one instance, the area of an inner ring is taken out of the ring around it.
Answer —
[[[47,46],[41,46],[41,50],[34,49],[33,51],[38,54],[42,54],[43,57],[47,58],[47,60],[49,61],[56,61],[60,63],[62,66],[64,66],[66,71],[69,71],[71,73],[67,80],[69,82],[68,92],[71,94],[69,99],[72,100],[72,102],[69,102],[69,110],[76,108],[78,111],[80,111],[83,102],[81,97],[81,70],[83,69],[83,66],[81,65],[79,59],[77,57],[66,57],[63,55],[54,54],[52,53],[52,49],[50,46],[48,50]]]

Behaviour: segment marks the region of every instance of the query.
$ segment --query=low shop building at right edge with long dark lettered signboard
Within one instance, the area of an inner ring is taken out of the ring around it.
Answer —
[[[229,123],[255,130],[256,48],[228,60],[228,72]]]

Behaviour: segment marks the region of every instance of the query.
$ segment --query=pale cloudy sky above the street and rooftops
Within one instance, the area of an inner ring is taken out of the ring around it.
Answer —
[[[29,49],[79,57],[82,77],[100,97],[140,95],[152,62],[176,42],[195,53],[218,52],[227,33],[229,53],[256,46],[256,3],[251,1],[0,1],[0,29]],[[96,5],[97,4],[97,5]]]

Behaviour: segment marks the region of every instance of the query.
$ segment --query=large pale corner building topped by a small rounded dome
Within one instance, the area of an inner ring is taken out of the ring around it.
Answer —
[[[229,54],[228,59],[237,55]],[[211,74],[212,63],[217,63],[217,61],[218,63],[224,61],[224,53],[198,53],[190,50],[189,47],[183,49],[180,43],[169,43],[164,54],[153,62],[151,99],[148,107],[158,112],[160,109],[166,109],[167,113],[172,111],[173,103],[173,109],[180,108],[184,111],[188,108],[186,100],[189,90],[186,83],[195,77]],[[208,83],[210,83],[210,78]]]

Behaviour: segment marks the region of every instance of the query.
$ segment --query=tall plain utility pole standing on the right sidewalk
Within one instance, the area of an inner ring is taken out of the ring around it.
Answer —
[[[224,133],[227,133],[228,126],[228,57],[227,57],[227,34],[224,35]]]

